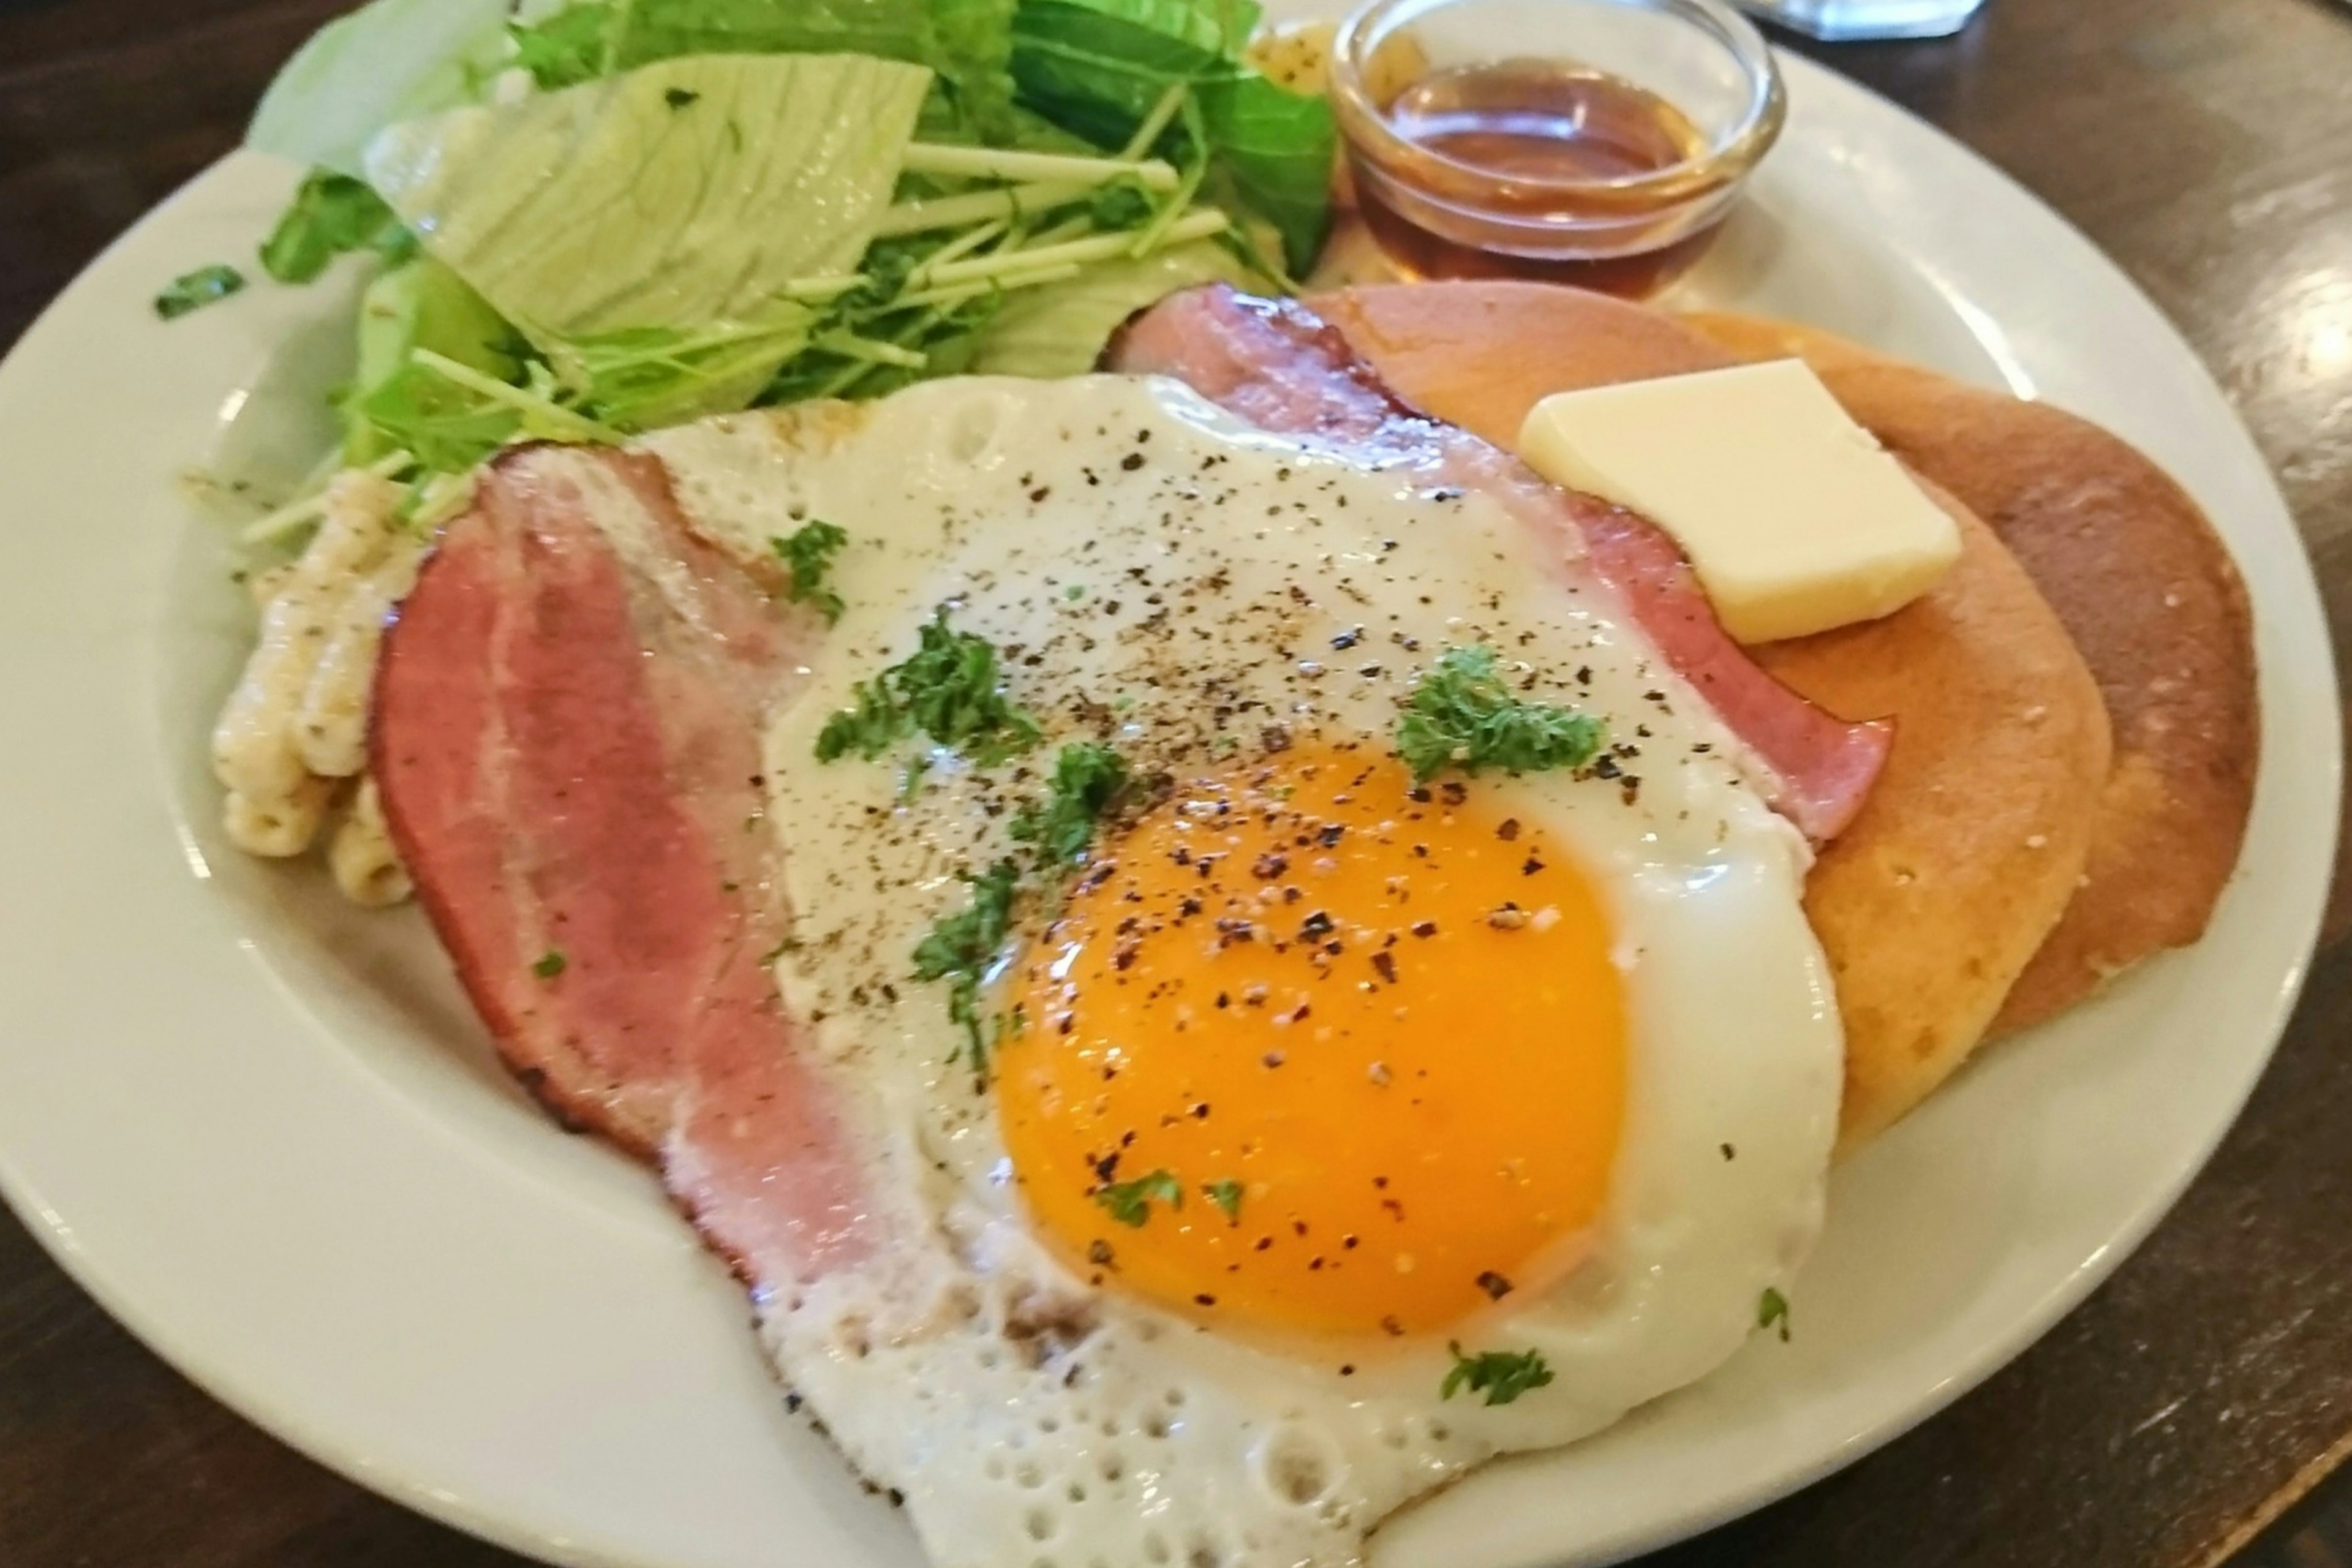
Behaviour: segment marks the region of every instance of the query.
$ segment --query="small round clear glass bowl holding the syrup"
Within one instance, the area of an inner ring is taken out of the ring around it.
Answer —
[[[1416,80],[1482,66],[1628,82],[1682,113],[1689,150],[1649,172],[1555,176],[1397,134],[1390,106]],[[1402,270],[1635,296],[1698,261],[1788,118],[1771,49],[1722,0],[1371,0],[1331,45],[1331,101],[1367,226]]]

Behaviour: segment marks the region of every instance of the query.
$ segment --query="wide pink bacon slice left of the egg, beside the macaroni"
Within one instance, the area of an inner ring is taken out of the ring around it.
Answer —
[[[393,844],[508,1067],[654,1159],[753,1286],[863,1255],[861,1171],[793,1051],[760,743],[821,625],[694,536],[649,456],[482,473],[386,632]]]

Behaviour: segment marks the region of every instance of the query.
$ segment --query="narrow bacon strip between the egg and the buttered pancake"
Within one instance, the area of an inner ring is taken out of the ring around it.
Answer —
[[[1171,294],[1120,331],[1105,369],[1176,376],[1263,430],[1406,468],[1430,487],[1496,496],[1621,595],[1668,663],[1771,769],[1773,806],[1806,837],[1837,837],[1870,795],[1891,724],[1849,724],[1776,682],[1724,632],[1663,529],[1545,484],[1510,454],[1414,409],[1305,306],[1228,284]]]

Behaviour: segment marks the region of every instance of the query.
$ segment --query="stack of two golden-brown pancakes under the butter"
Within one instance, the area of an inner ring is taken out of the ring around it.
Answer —
[[[1959,520],[1962,559],[1922,599],[1757,649],[1830,712],[1896,722],[1806,884],[1846,1020],[1844,1147],[1980,1041],[2204,933],[2253,799],[2246,592],[2129,444],[1785,322],[1524,282],[1312,306],[1402,397],[1503,447],[1548,393],[1804,357]]]

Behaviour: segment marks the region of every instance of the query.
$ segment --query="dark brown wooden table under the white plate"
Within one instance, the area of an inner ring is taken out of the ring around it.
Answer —
[[[226,153],[278,61],[341,5],[0,0],[0,346]],[[2180,322],[2286,487],[2343,656],[2352,12],[1992,0],[1957,40],[1818,54],[2039,190]],[[2192,1568],[2291,1505],[2293,1537],[2274,1530],[2251,1556],[2352,1561],[2352,1488],[2303,1500],[2352,1450],[2347,929],[2338,875],[2270,1077],[2114,1281],[1912,1436],[1656,1561]],[[513,1561],[245,1425],[0,1215],[0,1563]]]

